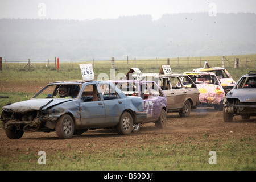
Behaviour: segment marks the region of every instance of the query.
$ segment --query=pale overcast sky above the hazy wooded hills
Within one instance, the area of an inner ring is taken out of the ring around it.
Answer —
[[[0,0],[0,18],[117,19],[119,16],[213,12],[256,13],[255,0]]]

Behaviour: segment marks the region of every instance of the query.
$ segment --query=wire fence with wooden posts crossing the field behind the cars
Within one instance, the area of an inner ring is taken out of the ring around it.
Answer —
[[[230,56],[217,56],[217,57],[172,57],[172,58],[158,58],[155,59],[130,59],[127,56],[126,60],[115,60],[110,57],[109,60],[73,60],[73,59],[2,59],[0,57],[0,70],[2,69],[80,69],[81,63],[92,63],[93,68],[101,70],[107,69],[126,69],[137,67],[144,70],[159,69],[161,65],[170,65],[171,68],[202,68],[205,61],[210,67],[223,67],[223,68],[254,68],[256,69],[256,55],[230,57]]]

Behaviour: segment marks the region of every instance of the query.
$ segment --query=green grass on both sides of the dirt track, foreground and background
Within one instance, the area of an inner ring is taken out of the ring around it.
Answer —
[[[256,55],[225,56],[225,68],[228,69],[235,81],[249,71],[256,70]],[[247,63],[245,62],[247,57]],[[240,67],[234,69],[234,59],[240,59]],[[201,65],[200,65],[201,59]],[[172,72],[192,71],[194,68],[203,67],[204,61],[208,61],[212,67],[221,67],[222,56],[216,57],[187,57],[170,59]],[[92,63],[92,62],[86,62]],[[156,60],[127,60],[115,61],[115,75],[126,73],[130,67],[138,67],[142,72],[158,72],[160,65],[165,65],[166,59]],[[35,86],[44,86],[48,82],[59,80],[81,80],[81,71],[77,62],[61,63],[59,70],[55,64],[32,63],[36,68],[24,68],[24,63],[3,63],[0,71],[0,107],[9,102],[28,100],[35,94],[35,90],[15,91],[16,85],[29,83]],[[110,78],[110,61],[95,61],[94,74],[97,79],[100,73],[106,73]],[[5,90],[8,86],[10,89]],[[38,88],[37,90],[39,90]],[[2,110],[2,109],[1,109]],[[2,123],[0,122],[0,125]],[[3,129],[0,132],[4,132]],[[15,155],[2,156],[0,149],[0,170],[256,170],[255,167],[255,138],[236,137],[230,140],[209,139],[208,134],[200,137],[185,137],[183,142],[167,144],[168,136],[151,139],[148,146],[129,147],[129,141],[120,143],[127,146],[123,148],[109,148],[104,151],[92,153],[81,152],[72,148],[72,143],[65,141],[68,151],[56,152],[47,155],[47,165],[38,165],[38,154],[32,148],[25,152],[17,149]],[[93,144],[92,146],[93,147]],[[222,166],[209,165],[209,156],[205,157],[205,151],[218,150],[218,162]],[[171,153],[170,153],[171,151]]]

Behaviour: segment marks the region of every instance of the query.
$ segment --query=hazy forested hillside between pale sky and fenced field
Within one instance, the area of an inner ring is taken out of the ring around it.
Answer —
[[[118,19],[0,19],[0,57],[104,60],[109,57],[219,56],[256,53],[253,13],[164,14]]]

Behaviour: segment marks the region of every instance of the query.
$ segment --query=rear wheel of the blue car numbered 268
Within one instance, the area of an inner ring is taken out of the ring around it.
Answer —
[[[117,132],[119,135],[127,135],[133,131],[133,117],[130,113],[124,112],[117,125]]]

